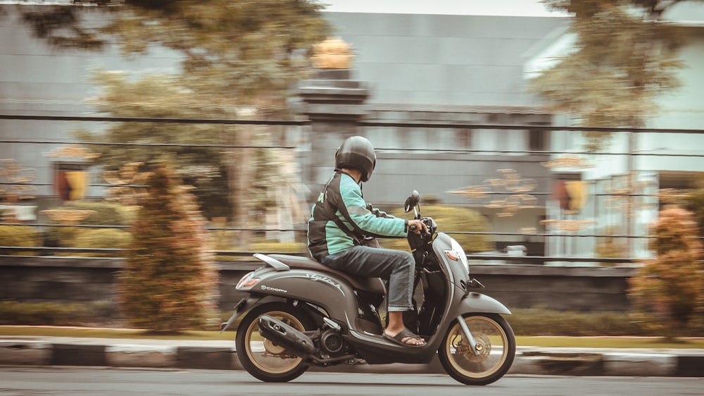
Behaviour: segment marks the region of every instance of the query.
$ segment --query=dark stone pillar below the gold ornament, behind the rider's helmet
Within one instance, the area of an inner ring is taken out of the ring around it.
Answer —
[[[310,151],[301,158],[303,183],[310,189],[308,202],[318,198],[332,175],[335,151],[342,141],[362,134],[358,122],[367,114],[369,89],[350,76],[348,69],[318,69],[315,78],[302,80],[298,86],[301,113],[311,122]]]

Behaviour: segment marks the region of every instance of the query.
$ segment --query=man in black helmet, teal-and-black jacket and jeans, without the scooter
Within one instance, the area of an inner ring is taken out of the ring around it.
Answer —
[[[427,233],[427,225],[417,219],[396,218],[365,202],[361,183],[371,178],[376,163],[374,147],[365,137],[349,137],[337,149],[334,173],[311,209],[308,250],[330,268],[388,280],[389,320],[384,338],[406,347],[422,347],[425,340],[403,324],[403,312],[413,309],[413,256],[363,244],[365,237],[406,237],[408,230]]]

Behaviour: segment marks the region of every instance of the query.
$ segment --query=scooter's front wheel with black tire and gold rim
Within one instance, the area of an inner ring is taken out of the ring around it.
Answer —
[[[440,363],[455,380],[466,385],[487,385],[508,372],[516,354],[516,338],[508,321],[500,315],[463,316],[479,354],[470,348],[460,324],[450,326],[438,350]]]

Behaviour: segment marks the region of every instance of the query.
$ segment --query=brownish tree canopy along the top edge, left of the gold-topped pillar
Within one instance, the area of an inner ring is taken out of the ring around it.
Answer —
[[[152,45],[180,51],[183,85],[199,87],[195,101],[225,100],[226,110],[282,103],[308,66],[306,53],[329,31],[321,9],[305,0],[132,0],[97,11],[46,6],[24,20],[60,48],[96,50],[114,40],[125,55]]]

